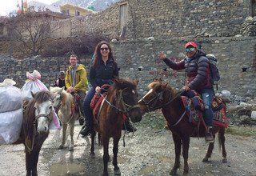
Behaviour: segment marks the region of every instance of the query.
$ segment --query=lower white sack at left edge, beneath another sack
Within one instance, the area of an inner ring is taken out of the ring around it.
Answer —
[[[0,113],[0,145],[12,144],[22,130],[22,108]]]

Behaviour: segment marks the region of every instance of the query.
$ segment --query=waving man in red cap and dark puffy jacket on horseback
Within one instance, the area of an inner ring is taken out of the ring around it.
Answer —
[[[158,54],[158,58],[162,59],[167,66],[173,70],[184,70],[186,72],[186,85],[183,90],[196,90],[202,95],[205,112],[204,119],[206,122],[206,142],[214,142],[211,129],[213,127],[214,112],[211,108],[211,102],[214,98],[214,89],[210,77],[209,60],[206,53],[198,49],[195,42],[187,42],[185,45],[186,58],[180,62],[172,62],[166,58],[164,52]]]

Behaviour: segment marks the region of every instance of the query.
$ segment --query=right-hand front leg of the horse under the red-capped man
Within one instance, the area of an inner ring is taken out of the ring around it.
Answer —
[[[183,175],[189,174],[189,164],[187,162],[189,158],[189,149],[190,149],[190,136],[183,136],[182,138],[182,156],[184,159],[184,168]]]

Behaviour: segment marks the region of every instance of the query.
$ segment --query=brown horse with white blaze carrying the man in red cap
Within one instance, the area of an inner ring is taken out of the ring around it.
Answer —
[[[138,104],[141,107],[142,114],[145,112],[162,109],[162,114],[166,118],[168,127],[172,132],[174,146],[175,146],[175,163],[170,171],[171,175],[176,175],[180,166],[180,155],[184,158],[183,175],[188,174],[188,152],[190,147],[190,137],[204,137],[205,128],[192,125],[189,122],[189,115],[186,114],[186,109],[182,104],[182,98],[177,91],[161,80],[151,82],[149,85],[150,91],[139,100]],[[226,110],[226,106],[224,107]],[[226,111],[225,111],[226,112]],[[225,149],[225,127],[214,126],[213,134],[218,132],[219,146],[222,146],[222,162],[226,162]],[[208,162],[214,143],[210,143],[206,153],[206,157],[202,160]]]

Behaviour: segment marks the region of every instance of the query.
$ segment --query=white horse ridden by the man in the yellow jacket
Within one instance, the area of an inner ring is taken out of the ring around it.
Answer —
[[[74,150],[74,122],[79,117],[79,113],[75,110],[74,98],[72,94],[67,93],[64,87],[51,87],[50,92],[55,95],[54,107],[58,107],[58,118],[62,122],[62,143],[58,146],[61,150],[66,144],[66,129],[70,130],[70,146],[69,150]]]

